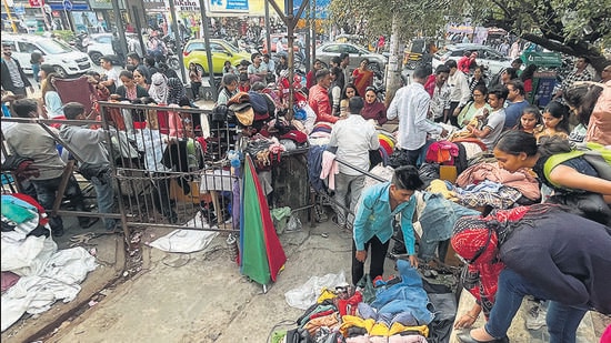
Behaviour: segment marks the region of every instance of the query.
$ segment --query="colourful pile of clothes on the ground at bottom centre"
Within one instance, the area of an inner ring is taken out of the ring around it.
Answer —
[[[274,337],[284,343],[429,342],[430,327],[437,327],[438,317],[445,320],[443,311],[431,304],[418,270],[403,260],[397,268],[399,275],[388,280],[323,289],[297,320],[298,327]],[[451,325],[453,313],[449,320]]]

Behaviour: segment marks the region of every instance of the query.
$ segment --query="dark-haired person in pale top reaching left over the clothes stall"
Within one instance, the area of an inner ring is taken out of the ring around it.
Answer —
[[[492,108],[492,112],[484,118],[483,128],[478,129],[471,123],[467,125],[467,130],[471,132],[474,138],[479,138],[490,151],[492,151],[499,137],[503,132],[505,122],[503,103],[505,102],[508,90],[505,87],[498,87],[490,90],[488,93],[488,103]]]

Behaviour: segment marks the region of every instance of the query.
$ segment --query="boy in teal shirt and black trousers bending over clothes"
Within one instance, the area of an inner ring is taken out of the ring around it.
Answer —
[[[394,170],[392,180],[364,189],[354,215],[352,242],[352,283],[357,284],[364,273],[367,252],[371,252],[370,276],[384,273],[384,260],[393,234],[394,215],[401,213],[401,231],[410,264],[418,266],[412,215],[415,209],[414,191],[424,183],[413,165]]]

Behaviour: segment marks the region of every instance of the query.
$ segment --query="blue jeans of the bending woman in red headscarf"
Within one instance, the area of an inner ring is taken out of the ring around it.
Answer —
[[[504,336],[524,295],[533,295],[542,300],[551,297],[547,290],[535,286],[514,271],[503,270],[499,276],[497,299],[485,324],[485,331],[494,337]],[[547,316],[550,343],[574,343],[577,327],[585,312],[588,312],[585,307],[579,309],[550,301]]]

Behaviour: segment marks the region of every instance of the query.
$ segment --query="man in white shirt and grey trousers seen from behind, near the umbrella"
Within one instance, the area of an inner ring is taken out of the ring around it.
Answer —
[[[337,147],[337,155],[350,165],[369,170],[369,151],[380,148],[375,128],[361,117],[364,101],[361,97],[352,97],[348,102],[350,114],[333,125],[328,147]],[[337,223],[345,226],[347,209],[354,212],[354,206],[361,196],[365,175],[348,165],[339,163],[339,174],[335,175]],[[353,219],[348,218],[348,222]]]

